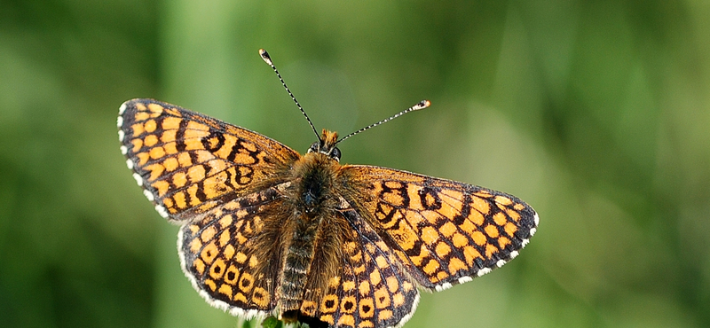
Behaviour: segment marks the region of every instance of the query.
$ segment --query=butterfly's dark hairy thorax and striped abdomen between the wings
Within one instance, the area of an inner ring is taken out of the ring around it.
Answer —
[[[278,291],[284,316],[303,312],[306,302],[318,304],[326,293],[327,279],[339,274],[341,231],[347,225],[337,211],[340,169],[337,160],[323,152],[308,152],[294,163],[292,184],[285,195],[290,217],[284,227]]]

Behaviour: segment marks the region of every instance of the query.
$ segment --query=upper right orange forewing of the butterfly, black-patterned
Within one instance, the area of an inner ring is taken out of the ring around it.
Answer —
[[[419,285],[443,290],[515,258],[538,215],[515,196],[390,168],[346,166],[351,199]]]

